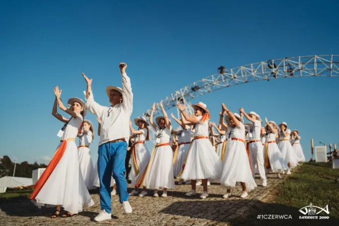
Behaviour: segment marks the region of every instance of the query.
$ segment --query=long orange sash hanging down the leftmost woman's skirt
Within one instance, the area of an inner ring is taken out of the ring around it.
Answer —
[[[69,138],[67,140],[61,141],[62,143],[59,146],[59,148],[56,150],[51,162],[48,164],[45,171],[40,176],[39,180],[34,184],[34,190],[31,194],[31,196],[29,197],[30,199],[36,200],[35,197],[39,194],[41,188],[44,186],[44,184],[48,180],[49,176],[52,174],[53,170],[58,165],[60,159],[64,155],[64,152],[65,152],[66,146],[67,146],[67,142],[68,141],[74,141],[74,140],[75,140],[74,138]]]

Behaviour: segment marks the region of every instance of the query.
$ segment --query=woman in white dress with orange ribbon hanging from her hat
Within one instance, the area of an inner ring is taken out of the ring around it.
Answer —
[[[206,104],[202,102],[192,105],[194,116],[188,116],[180,103],[177,103],[177,106],[182,113],[184,124],[194,125],[193,140],[179,176],[181,179],[191,180],[192,190],[186,193],[187,196],[196,195],[196,180],[201,179],[203,193],[200,198],[206,198],[207,180],[219,179],[222,172],[222,162],[208,139],[209,112]]]

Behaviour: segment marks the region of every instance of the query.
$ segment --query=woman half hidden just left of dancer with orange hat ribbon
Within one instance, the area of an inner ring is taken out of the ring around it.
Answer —
[[[181,167],[184,164],[186,154],[191,144],[191,128],[183,123],[183,116],[181,115],[181,120],[178,120],[171,114],[171,117],[176,121],[181,127],[182,130],[172,131],[173,134],[176,134],[178,137],[178,146],[174,151],[173,155],[173,173],[174,177],[177,177],[181,171]],[[178,181],[178,184],[182,184],[183,179]],[[190,181],[187,181],[187,184],[190,184]]]

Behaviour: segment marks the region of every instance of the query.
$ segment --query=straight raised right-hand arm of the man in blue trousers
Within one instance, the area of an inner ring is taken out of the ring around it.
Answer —
[[[123,83],[123,107],[126,112],[132,114],[133,111],[133,92],[131,79],[126,74],[126,63],[120,63],[119,68],[122,75],[122,83]]]

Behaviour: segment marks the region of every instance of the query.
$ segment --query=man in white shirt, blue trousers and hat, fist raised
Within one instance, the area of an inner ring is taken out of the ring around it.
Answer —
[[[92,79],[83,75],[87,82],[86,107],[101,120],[100,141],[98,149],[98,175],[100,181],[101,212],[94,218],[102,221],[111,218],[110,177],[116,180],[120,203],[125,213],[131,213],[128,201],[127,181],[125,178],[125,157],[130,137],[129,122],[133,111],[133,93],[131,80],[125,69],[127,65],[120,63],[123,88],[107,86],[106,93],[110,106],[101,106],[94,101],[91,84]]]

